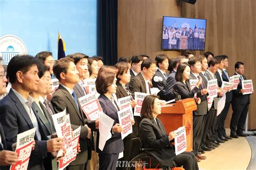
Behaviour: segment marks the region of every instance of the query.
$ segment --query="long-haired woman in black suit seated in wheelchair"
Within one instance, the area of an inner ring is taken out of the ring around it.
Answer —
[[[164,125],[157,118],[158,114],[161,114],[160,100],[154,95],[146,96],[140,111],[142,121],[139,125],[139,137],[143,147],[156,148],[156,151],[147,152],[153,155],[161,165],[172,167],[173,161],[175,161],[178,166],[183,166],[185,169],[199,169],[196,157],[192,152],[175,155],[171,142],[177,134],[170,132],[169,135],[166,135]]]

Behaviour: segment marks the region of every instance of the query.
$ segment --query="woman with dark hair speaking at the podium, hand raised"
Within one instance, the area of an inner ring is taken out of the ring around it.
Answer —
[[[190,83],[188,79],[190,78],[190,66],[187,63],[181,63],[178,66],[177,72],[175,74],[176,83],[173,86],[173,89],[176,90],[181,99],[186,98],[194,98],[194,94],[197,93],[196,102],[200,103],[201,91],[199,90],[199,85],[202,83],[201,78],[199,77],[199,81],[194,87],[194,89],[190,89]],[[204,94],[204,93],[203,93]]]

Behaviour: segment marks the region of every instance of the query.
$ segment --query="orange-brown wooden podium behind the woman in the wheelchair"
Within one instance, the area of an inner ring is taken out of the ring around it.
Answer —
[[[193,98],[177,101],[176,104],[167,104],[161,108],[161,114],[157,116],[164,124],[167,135],[181,126],[186,128],[187,150],[193,149],[193,117],[192,112],[197,110],[197,104]]]

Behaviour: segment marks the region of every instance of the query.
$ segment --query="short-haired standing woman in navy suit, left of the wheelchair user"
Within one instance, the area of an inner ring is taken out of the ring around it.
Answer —
[[[100,134],[97,135],[97,152],[99,153],[99,169],[116,169],[119,153],[124,151],[121,137],[123,131],[118,120],[118,105],[112,94],[116,93],[116,74],[113,72],[102,72],[98,74],[95,81],[97,92],[100,94],[98,100],[102,111],[114,120],[111,138],[106,141],[103,151],[98,148]]]

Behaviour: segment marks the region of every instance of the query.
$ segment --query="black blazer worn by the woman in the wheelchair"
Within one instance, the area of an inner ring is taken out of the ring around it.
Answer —
[[[146,151],[153,155],[160,164],[164,166],[173,165],[173,147],[166,135],[164,125],[156,118],[158,125],[154,119],[143,118],[139,125],[139,137],[142,140],[144,148],[156,148],[157,151]]]

